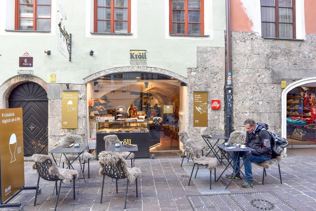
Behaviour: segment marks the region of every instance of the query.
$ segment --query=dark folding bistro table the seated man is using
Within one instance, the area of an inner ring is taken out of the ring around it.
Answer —
[[[248,151],[255,151],[255,149],[250,148],[250,147],[247,147],[247,148],[245,148],[245,149],[241,149],[241,148],[238,147],[238,146],[233,147],[233,144],[230,144],[230,145],[228,145],[228,146],[225,146],[224,144],[218,144],[217,146],[218,146],[220,149],[222,149],[223,151],[226,151],[226,152],[237,152],[237,156],[239,156],[239,152],[243,152],[243,151],[247,151],[247,152],[248,152]],[[231,147],[233,147],[233,148],[231,148]],[[220,175],[220,176],[217,178],[217,180],[216,180],[216,181],[218,181],[219,178],[222,177],[223,173],[229,168],[229,166],[231,166],[231,167],[233,168],[234,175],[233,175],[233,178],[230,180],[230,182],[228,183],[228,185],[226,186],[225,189],[227,189],[227,187],[228,187],[228,186],[230,185],[230,183],[233,181],[235,175],[238,174],[239,172],[242,173],[242,175],[246,178],[245,174],[244,174],[244,173],[242,172],[242,170],[241,170],[241,168],[242,168],[242,166],[245,164],[245,162],[243,162],[243,164],[240,166],[240,168],[237,170],[237,172],[235,172],[234,166],[233,166],[233,164],[232,164],[233,158],[231,157],[230,153],[226,153],[226,154],[227,154],[228,157],[230,157],[230,161],[228,162],[228,165],[226,166],[226,168],[224,169],[224,171],[221,173],[221,175]],[[250,155],[250,154],[246,154],[246,159],[245,159],[245,160],[248,159],[248,156],[249,156],[249,155]],[[228,157],[226,157],[225,153],[224,153],[224,156],[225,156],[225,158],[226,158],[227,160],[229,160]],[[240,162],[241,160],[242,160],[242,159],[239,159],[238,162]],[[252,187],[251,183],[249,183],[247,179],[245,179],[245,181]]]

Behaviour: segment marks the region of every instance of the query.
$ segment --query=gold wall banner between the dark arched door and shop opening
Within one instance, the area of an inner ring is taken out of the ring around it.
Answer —
[[[62,128],[78,128],[78,91],[63,91]]]

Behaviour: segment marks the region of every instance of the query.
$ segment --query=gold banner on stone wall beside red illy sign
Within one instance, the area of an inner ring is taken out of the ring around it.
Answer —
[[[207,92],[193,92],[193,126],[207,127]]]

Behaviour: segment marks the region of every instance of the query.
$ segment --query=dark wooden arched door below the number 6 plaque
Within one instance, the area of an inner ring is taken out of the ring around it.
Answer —
[[[23,108],[24,155],[48,153],[48,98],[37,83],[18,85],[9,96],[9,108]]]

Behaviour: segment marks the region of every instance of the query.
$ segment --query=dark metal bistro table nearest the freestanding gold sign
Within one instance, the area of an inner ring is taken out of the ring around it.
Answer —
[[[57,162],[56,162],[56,159],[55,159],[55,157],[54,157],[54,153],[56,153],[56,154],[59,154],[59,153],[60,153],[60,159],[59,159],[59,165],[58,165],[58,167],[60,166],[60,160],[61,160],[62,155],[64,155],[65,158],[66,158],[66,160],[68,161],[69,165],[68,165],[66,168],[69,168],[69,169],[70,169],[70,167],[71,167],[72,169],[74,169],[74,167],[72,166],[72,163],[73,163],[75,160],[77,160],[77,158],[79,158],[80,173],[79,173],[79,183],[78,183],[78,194],[79,194],[81,171],[83,172],[83,170],[82,170],[82,164],[81,164],[81,160],[80,160],[80,155],[82,154],[81,159],[83,160],[83,152],[84,152],[84,150],[85,150],[86,148],[88,148],[88,145],[83,145],[83,144],[80,144],[79,147],[74,147],[74,146],[72,146],[72,147],[57,146],[55,149],[53,149],[53,150],[51,150],[51,151],[49,152],[49,153],[52,154],[53,159],[54,159],[56,165],[57,165]],[[78,153],[78,156],[76,157],[76,159],[74,159],[74,160],[71,162],[71,161],[67,158],[67,156],[66,156],[67,153]],[[84,177],[84,174],[83,174],[83,173],[82,173],[82,175],[83,175],[84,181],[86,181],[86,178]]]

